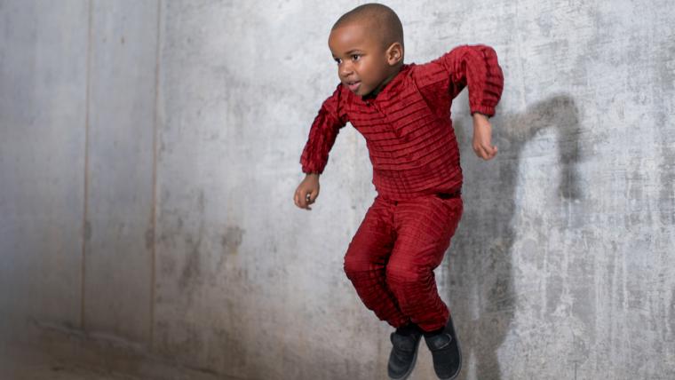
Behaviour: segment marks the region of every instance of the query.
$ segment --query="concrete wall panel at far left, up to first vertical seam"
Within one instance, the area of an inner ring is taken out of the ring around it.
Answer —
[[[81,314],[87,4],[0,2],[0,328]]]

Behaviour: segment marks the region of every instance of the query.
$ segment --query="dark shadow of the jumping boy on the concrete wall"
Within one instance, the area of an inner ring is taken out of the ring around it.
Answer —
[[[463,348],[463,379],[470,374],[469,364],[475,367],[477,379],[502,376],[497,350],[508,334],[517,302],[512,246],[518,164],[525,144],[537,132],[557,131],[560,197],[576,200],[581,194],[576,170],[580,127],[571,97],[553,96],[522,114],[496,116],[492,123],[500,151],[495,164],[476,160],[475,167],[465,165],[465,172],[472,170],[473,183],[465,184],[465,214],[449,249],[449,268],[441,279],[448,284],[447,299]],[[455,125],[458,139],[465,140],[461,136],[465,129]],[[537,229],[536,223],[533,227],[539,241],[545,241],[546,232]]]

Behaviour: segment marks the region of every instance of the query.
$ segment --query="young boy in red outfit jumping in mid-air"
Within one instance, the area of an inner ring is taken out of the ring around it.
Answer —
[[[409,376],[424,336],[436,375],[453,379],[461,352],[433,277],[463,210],[450,105],[468,87],[473,150],[492,159],[497,149],[488,116],[504,83],[496,53],[465,45],[424,65],[404,64],[401,21],[382,4],[340,17],[329,47],[340,83],[312,124],[300,158],[306,178],[294,201],[311,210],[338,131],[352,123],[366,139],[377,197],[346,251],[345,273],[363,303],[396,328],[391,378]]]

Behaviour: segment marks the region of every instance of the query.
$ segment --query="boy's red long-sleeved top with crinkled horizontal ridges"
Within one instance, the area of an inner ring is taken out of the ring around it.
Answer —
[[[460,189],[450,105],[465,86],[472,114],[495,114],[504,75],[492,48],[458,46],[424,65],[403,65],[375,99],[338,84],[312,123],[302,171],[323,172],[338,131],[349,122],[366,139],[377,194],[404,200]]]

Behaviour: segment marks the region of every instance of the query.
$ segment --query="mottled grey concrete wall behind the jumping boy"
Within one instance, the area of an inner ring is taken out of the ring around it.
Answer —
[[[314,210],[291,200],[355,4],[0,1],[4,340],[384,379],[391,329],[342,273],[375,196],[361,136],[341,131]],[[436,274],[461,378],[675,377],[671,4],[388,4],[407,61],[483,43],[504,68],[495,161],[453,106],[465,215]]]

